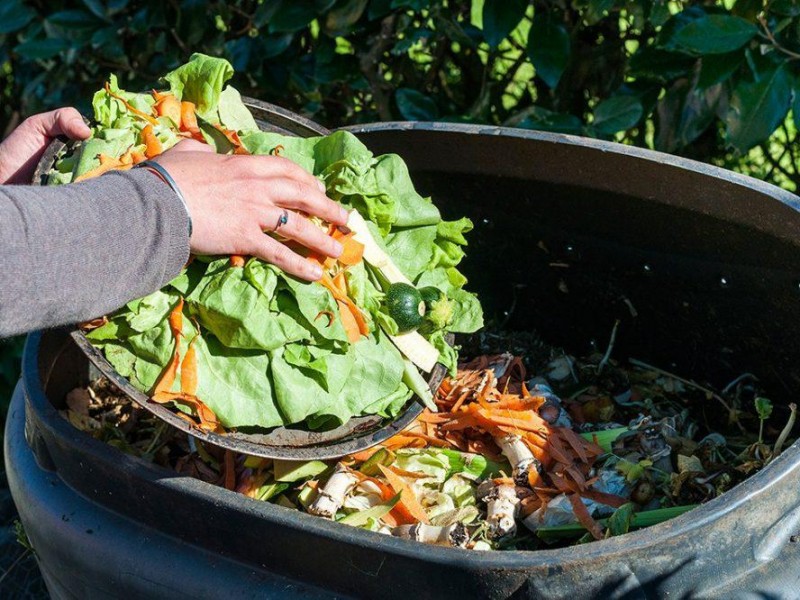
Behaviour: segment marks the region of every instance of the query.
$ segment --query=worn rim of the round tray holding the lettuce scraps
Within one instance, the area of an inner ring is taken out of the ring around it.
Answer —
[[[330,131],[321,125],[291,111],[252,98],[242,99],[253,113],[262,130],[275,131],[299,137],[327,135]],[[54,140],[43,154],[33,176],[34,185],[43,185],[49,169],[59,153],[67,147],[63,139]],[[197,439],[235,452],[264,458],[287,460],[333,459],[364,450],[390,438],[407,427],[421,412],[422,404],[412,396],[395,419],[377,415],[355,417],[328,431],[310,431],[301,428],[275,427],[258,433],[231,431],[214,433],[202,431],[180,418],[167,406],[152,402],[135,388],[127,378],[120,375],[105,356],[76,328],[70,337],[95,367],[116,385],[128,398],[167,422]],[[452,336],[449,339],[452,344]],[[445,368],[437,364],[428,377],[432,392],[436,392],[445,376]],[[335,442],[335,443],[334,443]]]

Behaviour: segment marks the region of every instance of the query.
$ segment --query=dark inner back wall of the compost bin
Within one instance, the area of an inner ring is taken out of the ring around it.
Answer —
[[[525,145],[528,164],[537,165],[530,173],[497,176],[496,157],[460,156],[474,144],[456,142],[441,158],[430,133],[359,136],[376,154],[403,156],[418,191],[445,218],[473,220],[461,269],[488,322],[535,330],[585,355],[605,350],[620,319],[614,358],[715,386],[749,371],[773,400],[797,397],[800,231],[792,236],[800,219],[793,208],[736,182],[709,189],[693,172],[676,170],[663,181],[663,165],[644,160],[635,176],[645,183],[615,181],[632,175],[609,168],[597,184],[587,165],[602,169],[598,157],[577,156],[582,149],[545,168],[541,162],[554,162],[553,144],[545,142]],[[577,183],[563,181],[570,172]],[[653,188],[642,193],[649,177]],[[614,186],[621,191],[607,189]],[[671,196],[673,188],[680,197]]]

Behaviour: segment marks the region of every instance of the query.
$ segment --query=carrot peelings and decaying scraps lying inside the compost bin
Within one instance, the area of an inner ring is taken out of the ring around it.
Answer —
[[[64,414],[124,452],[254,500],[473,550],[564,546],[673,518],[766,465],[795,419],[791,405],[772,428],[749,374],[715,392],[633,359],[555,351],[528,371],[511,354],[462,363],[437,412],[339,461],[204,445],[102,379],[74,390]]]

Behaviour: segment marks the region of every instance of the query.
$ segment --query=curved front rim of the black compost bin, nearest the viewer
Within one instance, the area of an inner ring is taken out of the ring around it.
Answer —
[[[401,554],[408,558],[419,559],[420,555],[427,555],[428,559],[437,560],[441,563],[457,563],[462,567],[471,566],[483,569],[487,567],[503,569],[530,567],[533,566],[532,558],[536,559],[535,564],[558,564],[561,566],[565,563],[578,563],[600,557],[605,559],[613,556],[622,558],[625,554],[634,550],[644,550],[668,544],[678,536],[713,523],[745,502],[763,494],[769,487],[775,485],[784,477],[789,476],[794,463],[800,460],[800,444],[795,442],[761,471],[722,496],[718,496],[669,521],[590,544],[534,551],[504,550],[492,552],[476,552],[461,548],[418,544],[371,531],[364,531],[357,527],[347,527],[340,523],[315,517],[299,510],[273,505],[269,502],[250,500],[242,494],[181,475],[166,467],[125,454],[117,448],[96,440],[87,433],[76,429],[58,413],[42,389],[39,350],[43,333],[42,331],[30,333],[25,340],[22,358],[22,381],[27,400],[26,410],[31,407],[34,408],[40,426],[49,430],[49,433],[54,437],[61,438],[67,444],[80,447],[83,453],[100,462],[110,462],[110,451],[111,461],[114,462],[118,469],[127,468],[139,471],[143,477],[151,479],[158,485],[172,487],[168,482],[179,480],[183,486],[180,491],[206,499],[217,507],[224,504],[230,510],[237,512],[244,510],[244,512],[251,515],[267,518],[282,526],[302,529],[306,533],[315,535],[323,535],[337,542],[349,544],[369,543],[376,550]],[[164,477],[165,475],[167,477]],[[65,483],[72,487],[69,482]],[[76,491],[82,493],[80,490]],[[124,516],[130,517],[130,515]],[[764,531],[768,531],[772,525],[770,524]]]

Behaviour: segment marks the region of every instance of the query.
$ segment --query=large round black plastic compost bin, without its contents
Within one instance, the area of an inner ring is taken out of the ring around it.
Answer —
[[[446,216],[475,221],[464,270],[506,328],[583,353],[620,318],[618,358],[716,384],[752,371],[776,410],[798,397],[792,194],[569,136],[353,131],[376,153],[401,154]],[[64,332],[31,335],[7,424],[10,485],[55,597],[798,597],[797,444],[667,523],[573,548],[480,553],[340,526],[123,455],[56,412],[89,376]]]

